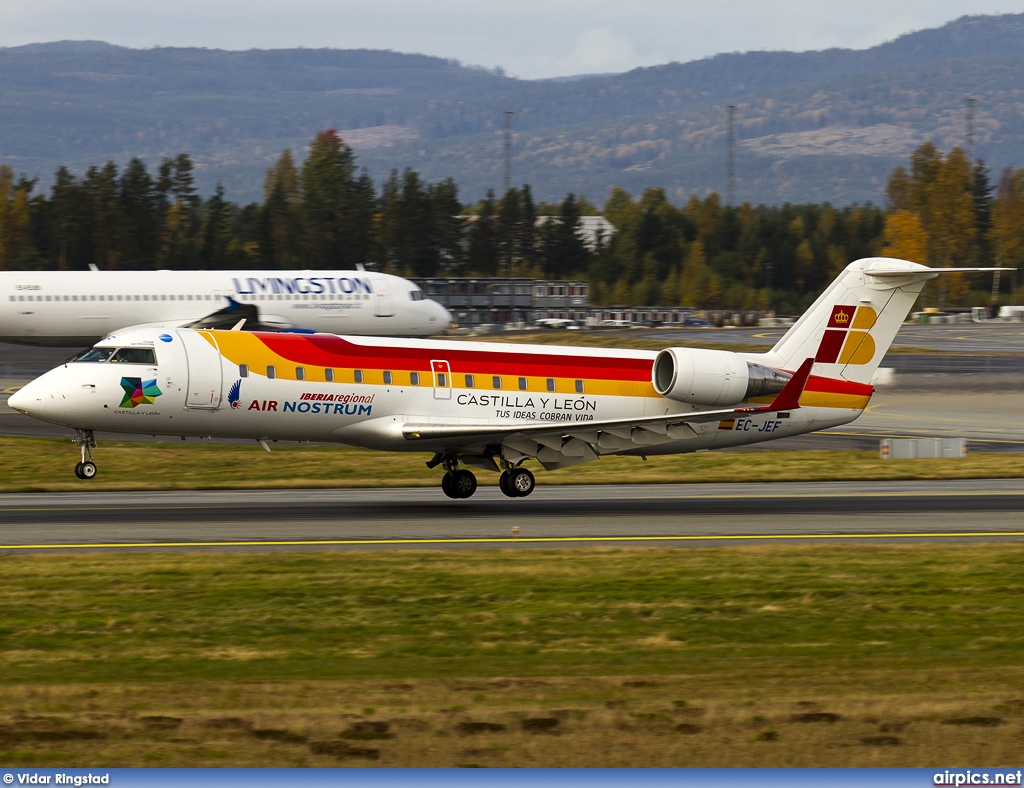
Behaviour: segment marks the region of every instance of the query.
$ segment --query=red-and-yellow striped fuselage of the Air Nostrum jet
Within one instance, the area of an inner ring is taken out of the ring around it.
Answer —
[[[579,431],[589,423],[700,410],[657,394],[657,354],[649,351],[152,329],[117,334],[94,350],[103,348],[153,355],[57,367],[32,384],[50,392],[33,404],[33,415],[85,430],[438,452],[450,441],[411,438],[407,426]],[[799,409],[696,424],[682,440],[635,445],[595,434],[594,443],[602,453],[658,454],[799,435],[859,415],[871,388],[836,385],[812,378]],[[463,449],[482,454],[486,447],[481,439]]]

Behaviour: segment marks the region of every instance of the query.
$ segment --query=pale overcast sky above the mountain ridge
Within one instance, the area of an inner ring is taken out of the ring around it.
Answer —
[[[523,78],[751,49],[862,49],[1024,0],[0,0],[0,46],[63,39],[394,49]]]

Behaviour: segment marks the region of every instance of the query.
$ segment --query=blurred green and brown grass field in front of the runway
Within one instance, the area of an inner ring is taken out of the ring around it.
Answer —
[[[17,555],[7,765],[1019,764],[1024,544]]]

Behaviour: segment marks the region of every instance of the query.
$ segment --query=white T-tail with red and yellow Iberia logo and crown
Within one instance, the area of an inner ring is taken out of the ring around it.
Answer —
[[[922,288],[940,273],[1005,270],[928,268],[907,260],[869,257],[850,263],[761,363],[796,370],[814,359],[821,378],[870,383]]]

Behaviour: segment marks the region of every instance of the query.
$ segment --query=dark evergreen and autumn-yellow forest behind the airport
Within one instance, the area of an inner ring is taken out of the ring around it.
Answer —
[[[406,276],[585,278],[591,302],[803,309],[849,262],[892,255],[932,266],[1014,268],[951,277],[931,306],[1016,303],[1024,263],[1024,169],[993,178],[981,161],[928,142],[889,177],[887,205],[673,204],[666,191],[611,191],[603,207],[567,193],[536,202],[529,185],[460,202],[452,178],[392,171],[375,184],[338,132],[318,133],[297,164],[284,150],[263,201],[204,198],[187,154],[151,173],[140,159],[75,174],[48,194],[0,166],[0,269],[348,268]],[[616,228],[594,247],[583,215]],[[550,217],[538,222],[538,217]],[[938,303],[941,300],[942,303]]]

